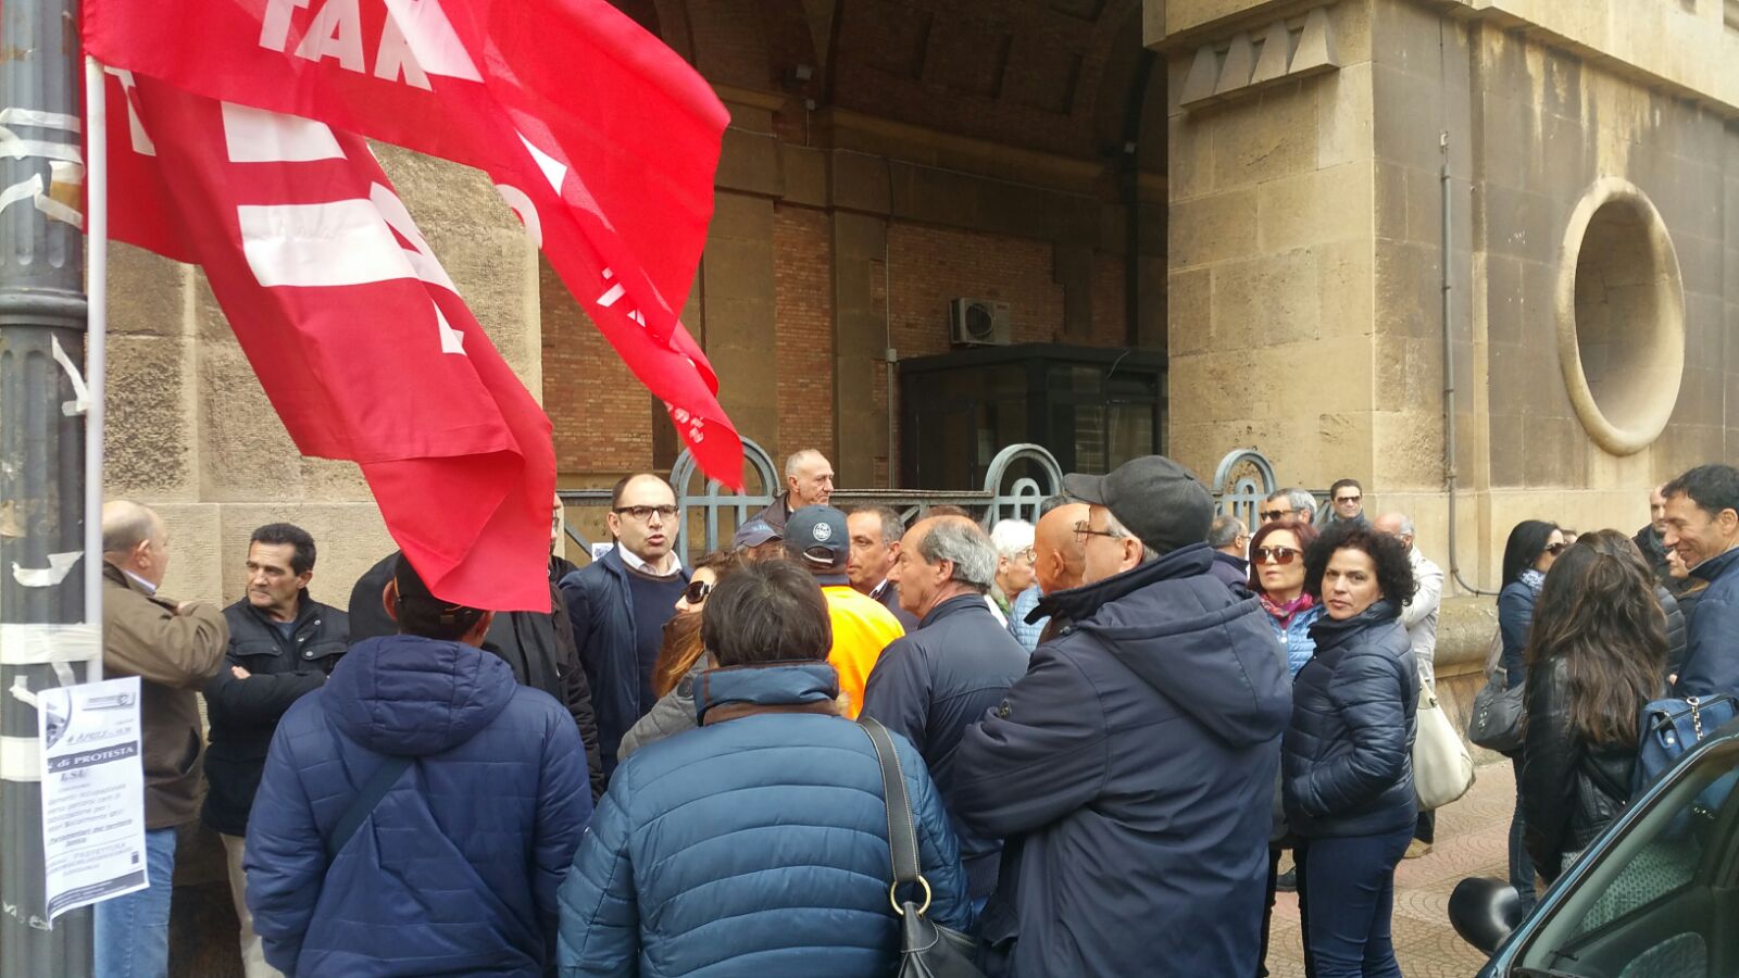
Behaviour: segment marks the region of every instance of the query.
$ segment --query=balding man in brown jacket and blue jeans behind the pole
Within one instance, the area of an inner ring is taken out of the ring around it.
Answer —
[[[96,975],[169,975],[176,827],[198,814],[200,708],[195,691],[223,665],[230,626],[203,602],[158,597],[169,529],[139,503],[103,505],[103,670],[139,677],[144,727],[148,888],[97,903]]]

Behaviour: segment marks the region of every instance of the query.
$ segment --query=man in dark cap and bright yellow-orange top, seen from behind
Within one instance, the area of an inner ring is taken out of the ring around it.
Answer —
[[[833,620],[833,647],[828,663],[840,673],[840,693],[845,696],[845,715],[856,719],[864,705],[864,684],[875,668],[882,649],[906,633],[899,620],[876,599],[859,593],[845,576],[845,562],[852,553],[845,513],[833,506],[803,506],[784,524],[784,552],[802,564],[823,597],[828,599],[828,616]]]

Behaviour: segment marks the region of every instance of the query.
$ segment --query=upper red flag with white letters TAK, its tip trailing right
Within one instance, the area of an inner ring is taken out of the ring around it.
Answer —
[[[729,115],[603,0],[87,0],[85,47],[203,96],[483,169],[701,468],[743,482],[676,322]]]

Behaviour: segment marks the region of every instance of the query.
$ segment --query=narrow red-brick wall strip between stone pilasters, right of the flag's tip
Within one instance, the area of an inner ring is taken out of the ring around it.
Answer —
[[[814,447],[833,458],[833,242],[828,214],[809,207],[774,207],[772,261],[777,332],[772,360],[779,385],[776,451],[790,454]],[[756,378],[720,379],[732,381],[756,383]]]

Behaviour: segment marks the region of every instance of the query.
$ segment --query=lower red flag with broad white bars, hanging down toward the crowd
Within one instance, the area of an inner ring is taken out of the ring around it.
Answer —
[[[550,419],[360,136],[110,82],[115,238],[205,268],[304,454],[362,465],[436,595],[550,611]]]

